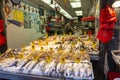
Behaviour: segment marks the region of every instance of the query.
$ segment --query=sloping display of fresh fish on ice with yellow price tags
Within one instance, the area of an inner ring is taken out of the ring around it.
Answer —
[[[92,38],[86,40],[73,35],[51,36],[21,49],[10,49],[0,56],[0,70],[45,77],[94,79],[89,53],[98,50]]]

